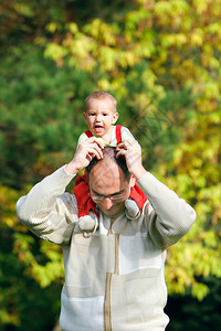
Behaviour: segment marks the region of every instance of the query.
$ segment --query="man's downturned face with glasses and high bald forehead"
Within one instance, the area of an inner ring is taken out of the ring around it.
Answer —
[[[98,162],[91,170],[91,197],[101,212],[109,217],[116,217],[125,207],[129,197],[133,180],[126,180],[123,170],[112,160]]]

